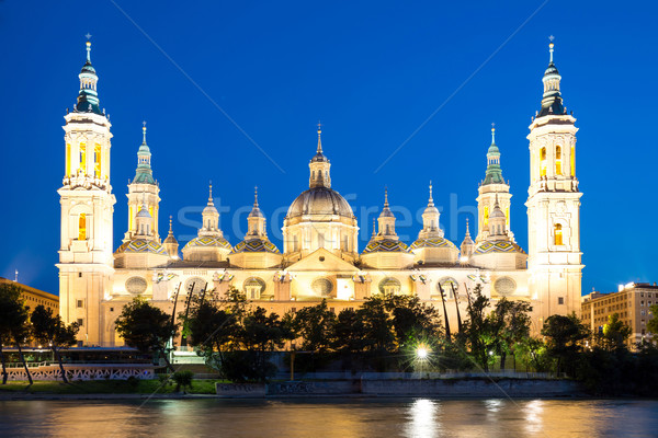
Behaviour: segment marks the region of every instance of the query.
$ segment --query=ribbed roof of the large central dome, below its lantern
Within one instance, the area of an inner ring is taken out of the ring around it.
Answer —
[[[309,188],[297,196],[291,204],[286,218],[292,219],[306,215],[318,216],[318,220],[327,220],[336,215],[348,219],[354,218],[352,207],[345,198],[338,192],[321,186]]]

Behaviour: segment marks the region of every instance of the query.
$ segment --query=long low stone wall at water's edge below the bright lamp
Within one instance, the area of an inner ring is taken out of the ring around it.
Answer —
[[[427,379],[362,380],[361,393],[368,395],[431,395],[476,397],[554,397],[580,392],[571,380],[538,379]]]

